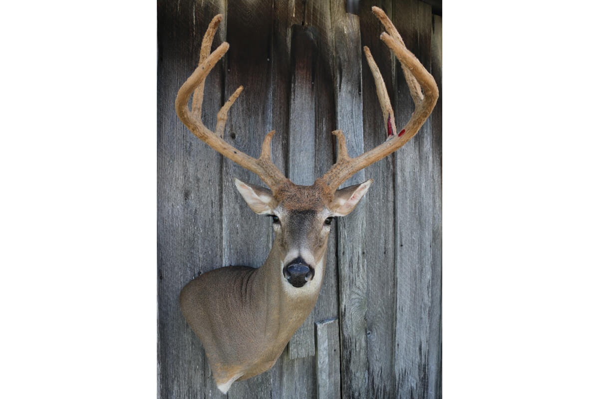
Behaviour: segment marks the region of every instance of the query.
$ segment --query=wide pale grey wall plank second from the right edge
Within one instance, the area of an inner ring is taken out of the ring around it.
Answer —
[[[431,6],[417,1],[395,4],[393,21],[407,47],[431,68]],[[398,126],[414,109],[401,68],[398,74]],[[427,120],[396,157],[395,214],[397,324],[395,374],[400,397],[429,397],[432,293],[432,131]]]

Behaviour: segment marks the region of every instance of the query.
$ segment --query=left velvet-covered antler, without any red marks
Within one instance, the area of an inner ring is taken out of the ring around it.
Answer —
[[[240,95],[243,86],[240,86],[235,90],[227,102],[225,102],[225,105],[220,108],[220,111],[217,114],[216,133],[205,127],[204,123],[202,123],[201,116],[202,99],[204,99],[204,82],[208,73],[214,68],[214,65],[216,65],[216,63],[225,55],[226,51],[229,50],[229,44],[223,42],[213,53],[209,54],[214,33],[216,33],[216,29],[222,19],[222,14],[218,14],[211,20],[210,25],[208,25],[204,39],[202,39],[198,68],[196,68],[195,71],[193,71],[193,74],[187,78],[185,83],[183,83],[183,86],[179,89],[179,93],[177,93],[177,99],[175,100],[177,115],[181,122],[187,126],[187,129],[191,130],[191,132],[198,136],[199,139],[238,165],[256,173],[268,187],[273,191],[276,191],[277,187],[285,181],[286,178],[285,175],[277,169],[270,157],[270,142],[273,139],[274,130],[268,133],[264,138],[264,142],[262,142],[262,151],[258,159],[237,150],[237,148],[228,144],[228,142],[223,139],[227,112]],[[189,103],[189,97],[192,92],[192,111],[189,111],[187,103]]]

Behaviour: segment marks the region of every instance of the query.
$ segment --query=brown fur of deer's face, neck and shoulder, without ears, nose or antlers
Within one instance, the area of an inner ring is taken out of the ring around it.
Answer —
[[[330,214],[325,207],[327,190],[322,184],[302,186],[287,181],[273,196],[280,222],[262,267],[222,267],[199,276],[181,291],[183,316],[202,341],[217,385],[272,367],[316,304],[330,232],[330,227],[323,226]],[[311,266],[321,264],[322,270],[309,295],[290,297],[282,289],[291,284],[282,279],[281,265],[296,248],[308,251],[313,257]]]

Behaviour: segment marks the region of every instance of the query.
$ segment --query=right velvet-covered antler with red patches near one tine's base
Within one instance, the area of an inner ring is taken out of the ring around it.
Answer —
[[[424,68],[416,56],[406,48],[406,44],[401,39],[400,33],[397,32],[397,29],[395,29],[395,26],[385,12],[379,7],[373,7],[372,10],[374,15],[385,26],[387,32],[383,32],[380,38],[391,48],[395,57],[400,60],[401,68],[404,71],[404,77],[406,77],[416,108],[404,129],[400,133],[397,133],[395,129],[395,116],[391,107],[391,101],[389,101],[387,89],[385,88],[385,82],[373,60],[372,54],[370,54],[370,50],[364,46],[364,53],[374,76],[380,108],[387,123],[388,139],[367,153],[351,158],[347,154],[345,136],[343,136],[341,130],[335,130],[333,134],[337,136],[337,162],[320,178],[331,190],[336,190],[341,183],[349,179],[358,170],[364,169],[364,167],[385,158],[413,138],[424,124],[426,118],[428,118],[428,115],[431,114],[432,108],[434,108],[439,97],[439,90],[434,78],[426,71],[426,68]]]

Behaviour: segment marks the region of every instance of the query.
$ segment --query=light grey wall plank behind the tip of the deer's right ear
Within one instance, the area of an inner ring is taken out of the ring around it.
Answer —
[[[340,0],[331,2],[331,16],[337,127],[346,136],[349,155],[355,157],[364,152],[359,18],[346,13],[345,3]],[[353,175],[343,187],[362,181],[364,170]],[[364,206],[361,203],[352,214],[339,218],[337,234],[342,394],[344,398],[363,398],[366,395],[368,357],[365,318],[367,271],[364,263],[366,236]]]

